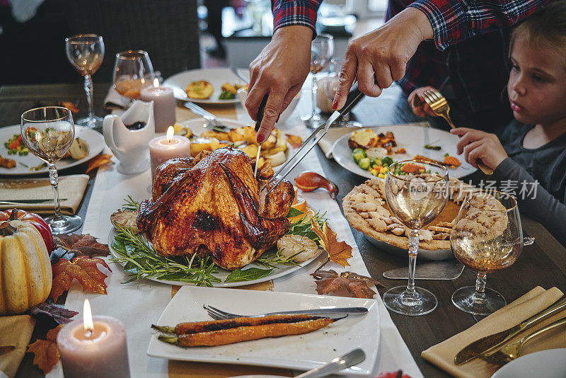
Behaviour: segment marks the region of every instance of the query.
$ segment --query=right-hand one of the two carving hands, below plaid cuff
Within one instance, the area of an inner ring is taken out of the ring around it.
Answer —
[[[348,44],[333,109],[341,109],[355,79],[358,88],[377,97],[405,76],[405,66],[420,42],[432,38],[432,25],[417,8],[408,7],[380,28]]]

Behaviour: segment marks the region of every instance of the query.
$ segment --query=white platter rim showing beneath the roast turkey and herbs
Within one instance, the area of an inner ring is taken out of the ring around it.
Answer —
[[[116,251],[114,251],[114,248],[112,248],[112,241],[114,241],[116,234],[117,234],[116,229],[112,227],[112,230],[110,230],[110,234],[108,235],[108,248],[110,248],[110,253],[112,254],[112,256],[114,256],[115,258],[120,258],[120,255],[118,255],[116,253]],[[322,251],[322,250],[320,250],[320,251]],[[218,273],[216,273],[216,277],[219,277],[222,281],[221,282],[213,282],[212,286],[214,286],[214,287],[238,287],[238,286],[252,285],[252,284],[255,284],[255,283],[265,282],[265,281],[269,281],[269,280],[275,280],[275,278],[282,277],[284,275],[289,275],[289,274],[295,272],[296,270],[303,268],[304,266],[308,265],[313,260],[315,260],[318,256],[320,256],[320,253],[318,253],[318,255],[316,255],[315,257],[309,258],[308,260],[304,261],[303,263],[300,263],[299,265],[278,265],[279,268],[272,270],[272,272],[269,275],[266,275],[265,277],[258,278],[257,280],[242,281],[242,282],[224,282],[224,280],[226,280],[226,277],[228,277],[228,275],[231,273],[231,271],[223,269],[223,268],[218,268]],[[123,264],[122,264],[122,266],[123,266]],[[256,263],[250,263],[250,264],[246,265],[243,268],[243,270],[246,270],[248,268],[265,269],[265,266],[262,266],[262,265],[259,265],[259,264],[256,264]],[[167,285],[194,286],[194,284],[192,284],[190,282],[158,280],[156,278],[148,278],[148,279],[155,281],[155,282],[161,282],[161,283],[164,283],[164,284],[167,284]]]

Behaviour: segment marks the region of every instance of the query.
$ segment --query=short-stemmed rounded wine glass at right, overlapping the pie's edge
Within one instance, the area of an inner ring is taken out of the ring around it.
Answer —
[[[485,276],[513,265],[521,254],[523,230],[514,197],[495,190],[468,193],[454,219],[450,245],[458,261],[478,271],[475,287],[456,290],[452,303],[475,315],[489,315],[504,307],[504,297],[485,288]]]

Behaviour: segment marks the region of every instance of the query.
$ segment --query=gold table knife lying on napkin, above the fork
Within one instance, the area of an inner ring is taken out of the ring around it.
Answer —
[[[505,331],[494,333],[490,336],[485,336],[483,338],[480,338],[480,340],[475,340],[473,343],[470,343],[458,352],[456,357],[454,357],[454,364],[463,365],[466,362],[470,362],[471,360],[475,359],[476,357],[480,357],[480,355],[492,352],[497,347],[499,347],[499,345],[502,345],[505,341],[509,340],[517,333],[521,333],[527,328],[531,328],[531,326],[534,326],[536,323],[547,319],[549,316],[557,313],[564,308],[566,308],[566,298],[556,302],[546,309],[543,309],[543,311],[531,316],[529,319],[522,321],[516,326],[506,329]]]

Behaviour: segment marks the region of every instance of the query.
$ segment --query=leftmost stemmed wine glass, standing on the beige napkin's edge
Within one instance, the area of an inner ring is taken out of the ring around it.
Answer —
[[[59,161],[74,141],[75,126],[71,110],[60,106],[47,106],[26,111],[21,117],[22,139],[32,154],[47,163],[53,189],[55,214],[45,221],[53,234],[74,231],[83,224],[77,215],[62,215],[59,205],[59,176],[55,162]]]

